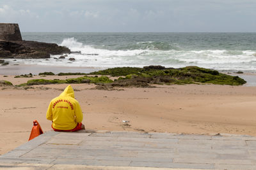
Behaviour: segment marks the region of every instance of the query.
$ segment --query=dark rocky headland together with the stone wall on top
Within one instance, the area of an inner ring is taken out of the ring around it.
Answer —
[[[70,53],[70,50],[55,43],[24,41],[19,24],[0,23],[0,59],[46,59],[51,54],[63,53]]]

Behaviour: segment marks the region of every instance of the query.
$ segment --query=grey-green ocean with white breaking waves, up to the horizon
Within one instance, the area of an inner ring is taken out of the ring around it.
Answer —
[[[66,59],[10,60],[12,63],[73,67],[199,66],[218,71],[256,72],[256,33],[22,32],[24,40],[57,43]],[[70,62],[68,58],[76,61]]]

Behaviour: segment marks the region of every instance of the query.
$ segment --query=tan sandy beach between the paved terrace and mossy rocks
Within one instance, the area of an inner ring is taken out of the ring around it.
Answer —
[[[78,76],[46,76],[65,79]],[[34,76],[33,79],[40,78]],[[30,78],[31,79],[31,78]],[[29,78],[0,76],[18,85]],[[72,84],[90,131],[173,132],[184,134],[248,134],[256,136],[256,87],[230,85],[155,85],[155,88],[95,90]],[[51,131],[45,113],[67,84],[1,87],[0,154],[28,141],[33,120]],[[125,120],[126,122],[123,122]]]

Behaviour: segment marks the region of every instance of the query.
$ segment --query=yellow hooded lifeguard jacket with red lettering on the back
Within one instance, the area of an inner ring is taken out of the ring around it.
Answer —
[[[46,118],[52,121],[54,129],[71,130],[76,127],[77,123],[82,122],[83,113],[74,97],[74,90],[68,85],[60,96],[52,99]]]

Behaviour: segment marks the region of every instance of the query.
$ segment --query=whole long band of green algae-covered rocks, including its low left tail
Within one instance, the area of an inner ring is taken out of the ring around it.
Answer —
[[[216,70],[196,66],[188,66],[178,69],[166,68],[163,66],[147,66],[143,68],[115,67],[90,74],[102,74],[120,77],[115,81],[109,79],[107,76],[82,76],[79,78],[68,78],[66,80],[36,79],[29,80],[27,83],[23,83],[18,86],[46,85],[56,83],[108,83],[108,86],[111,87],[149,87],[149,84],[184,85],[211,83],[218,85],[243,85],[246,83],[245,80],[239,78],[238,76],[230,76],[219,73]]]

